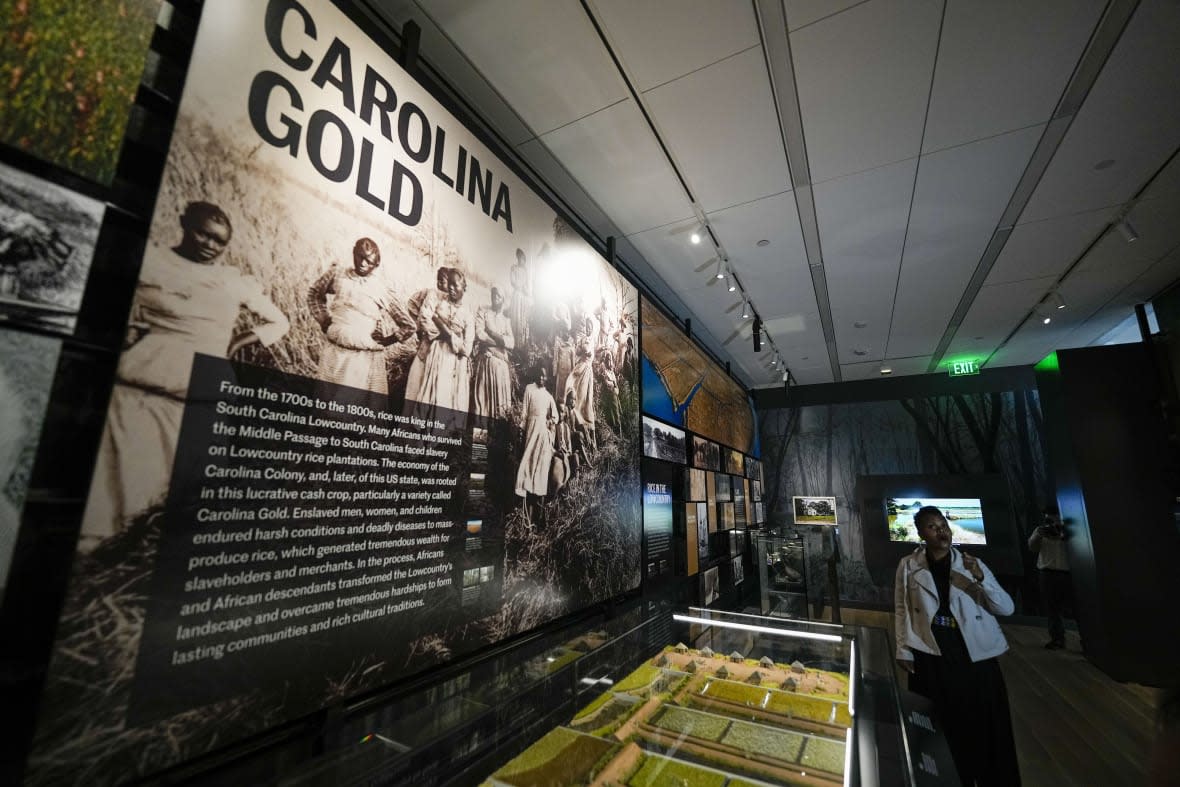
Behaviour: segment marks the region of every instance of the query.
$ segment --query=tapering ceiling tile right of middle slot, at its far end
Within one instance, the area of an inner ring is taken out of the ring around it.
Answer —
[[[815,214],[841,363],[885,355],[918,159],[815,185]],[[858,328],[857,323],[864,323]]]

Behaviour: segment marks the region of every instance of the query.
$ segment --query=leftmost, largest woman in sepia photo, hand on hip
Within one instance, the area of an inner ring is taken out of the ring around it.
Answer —
[[[192,356],[232,358],[248,345],[269,347],[289,327],[257,280],[218,262],[234,231],[221,208],[189,203],[181,230],[177,245],[144,254],[83,517],[83,551],[164,501]],[[257,320],[237,332],[243,310]]]

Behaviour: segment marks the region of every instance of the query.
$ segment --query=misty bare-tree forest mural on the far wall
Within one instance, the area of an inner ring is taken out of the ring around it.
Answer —
[[[793,523],[794,496],[835,496],[840,596],[853,602],[892,601],[865,564],[859,477],[999,473],[1021,538],[1053,496],[1034,389],[766,408],[759,431],[771,526]]]

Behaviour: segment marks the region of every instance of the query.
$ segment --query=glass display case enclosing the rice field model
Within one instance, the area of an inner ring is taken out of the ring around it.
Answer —
[[[288,781],[916,783],[881,629],[648,604],[562,634],[358,714]]]

